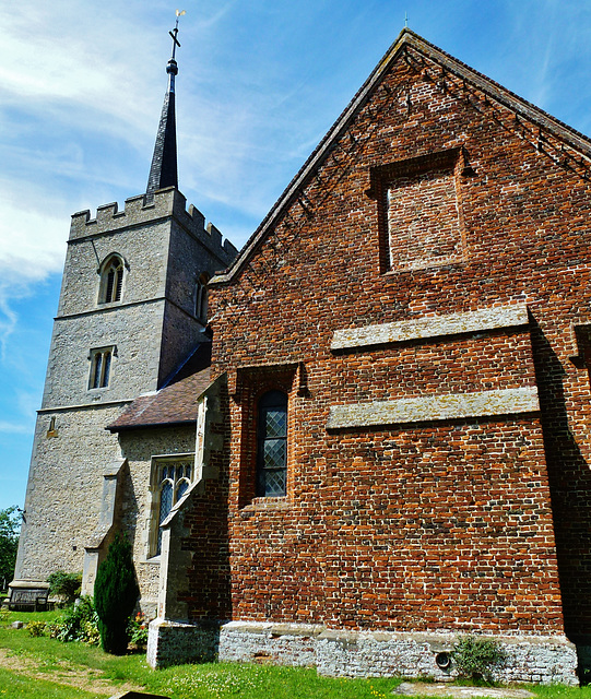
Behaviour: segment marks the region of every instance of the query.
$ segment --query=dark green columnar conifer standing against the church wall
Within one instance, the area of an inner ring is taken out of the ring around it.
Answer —
[[[103,650],[122,655],[129,643],[128,623],[140,589],[135,580],[131,544],[117,534],[107,557],[98,566],[94,583],[94,605]]]

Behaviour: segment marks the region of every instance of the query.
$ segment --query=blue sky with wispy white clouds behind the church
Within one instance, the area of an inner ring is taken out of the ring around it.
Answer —
[[[427,40],[591,133],[589,0],[177,2],[0,5],[0,508],[24,501],[70,215],[144,191],[177,8],[179,187],[237,247],[405,13]]]

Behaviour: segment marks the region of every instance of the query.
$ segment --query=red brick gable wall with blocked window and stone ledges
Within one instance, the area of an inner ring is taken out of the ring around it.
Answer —
[[[212,289],[216,372],[303,363],[307,376],[306,391],[295,374],[289,387],[288,495],[252,502],[248,415],[268,379],[237,375],[232,613],[559,632],[564,603],[567,630],[584,633],[591,415],[588,372],[569,357],[571,324],[591,320],[589,186],[555,162],[549,132],[537,147],[534,126],[413,55],[393,63],[233,283]],[[457,203],[448,198],[461,259],[385,273],[386,217],[379,193],[368,197],[371,173],[449,149],[463,149]],[[510,329],[330,351],[336,329],[517,300],[532,313],[533,355],[529,332]],[[331,405],[534,382],[540,415],[326,429]]]

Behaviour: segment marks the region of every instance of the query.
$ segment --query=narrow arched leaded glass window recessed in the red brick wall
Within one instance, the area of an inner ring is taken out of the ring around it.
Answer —
[[[287,395],[269,391],[258,408],[257,496],[282,497],[287,485]]]

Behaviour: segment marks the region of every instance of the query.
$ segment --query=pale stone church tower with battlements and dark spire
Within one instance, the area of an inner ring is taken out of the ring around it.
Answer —
[[[83,567],[92,577],[116,509],[127,507],[115,501],[123,459],[106,426],[203,340],[206,282],[236,256],[177,189],[177,72],[173,50],[146,193],[123,211],[72,216],[15,582]]]

